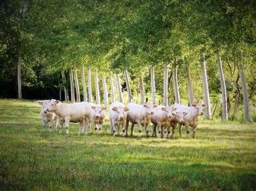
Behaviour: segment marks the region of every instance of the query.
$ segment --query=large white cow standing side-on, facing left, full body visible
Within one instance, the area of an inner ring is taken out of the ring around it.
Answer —
[[[66,134],[69,135],[69,123],[79,122],[79,133],[83,130],[83,120],[85,119],[85,135],[89,127],[91,106],[86,102],[79,103],[62,103],[58,100],[51,100],[47,111],[55,112],[59,116],[59,132],[62,131],[62,125],[65,122]]]

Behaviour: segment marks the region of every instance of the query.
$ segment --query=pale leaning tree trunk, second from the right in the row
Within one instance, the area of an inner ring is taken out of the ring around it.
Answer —
[[[227,93],[226,93],[226,84],[225,78],[222,68],[222,63],[219,55],[219,51],[216,53],[216,58],[218,62],[218,69],[220,75],[220,85],[221,85],[221,93],[222,93],[222,119],[223,121],[227,121]]]

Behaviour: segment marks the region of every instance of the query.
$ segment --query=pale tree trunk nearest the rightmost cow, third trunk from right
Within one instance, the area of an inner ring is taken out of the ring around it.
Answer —
[[[207,82],[207,73],[206,73],[206,62],[205,62],[205,54],[201,54],[201,74],[203,79],[203,91],[204,91],[204,102],[206,104],[205,107],[205,119],[211,118],[211,103],[210,103],[210,96],[209,96],[209,89],[208,89],[208,82]]]

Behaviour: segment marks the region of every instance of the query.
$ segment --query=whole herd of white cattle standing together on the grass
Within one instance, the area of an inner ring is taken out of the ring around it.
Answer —
[[[85,126],[85,135],[91,124],[96,131],[102,129],[105,119],[106,107],[99,105],[79,102],[79,103],[62,103],[58,100],[38,101],[42,105],[41,117],[43,122],[43,131],[46,124],[49,123],[49,132],[55,121],[55,130],[59,122],[59,132],[62,132],[63,123],[65,123],[66,134],[69,134],[69,123],[79,123],[80,135]],[[169,107],[157,105],[147,102],[143,105],[137,103],[129,103],[125,105],[121,102],[113,102],[109,107],[110,132],[113,136],[119,135],[119,129],[122,125],[123,137],[128,136],[129,122],[131,123],[130,136],[133,136],[134,125],[138,126],[138,137],[142,136],[142,126],[145,127],[145,137],[149,137],[149,125],[152,125],[152,137],[170,138],[170,129],[172,128],[172,138],[176,127],[179,129],[179,136],[182,137],[181,127],[186,127],[186,137],[190,133],[190,126],[193,128],[193,138],[196,135],[196,129],[199,116],[203,115],[203,109],[206,104],[193,103],[190,107],[174,104]],[[158,136],[156,133],[158,128]]]

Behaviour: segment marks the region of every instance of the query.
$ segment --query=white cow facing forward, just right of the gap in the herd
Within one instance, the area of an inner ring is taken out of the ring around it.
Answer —
[[[114,132],[116,135],[119,135],[119,128],[122,125],[123,136],[125,132],[125,122],[127,117],[127,112],[129,108],[125,108],[124,104],[121,102],[113,102],[109,107],[109,119],[110,119],[110,132],[111,135],[114,136]]]

